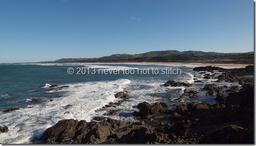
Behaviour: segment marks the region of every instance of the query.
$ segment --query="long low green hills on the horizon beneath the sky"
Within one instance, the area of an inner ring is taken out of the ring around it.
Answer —
[[[151,51],[140,54],[112,54],[100,58],[62,58],[51,63],[184,62],[254,64],[254,52],[218,53],[203,51]],[[49,62],[43,62],[49,63]]]

